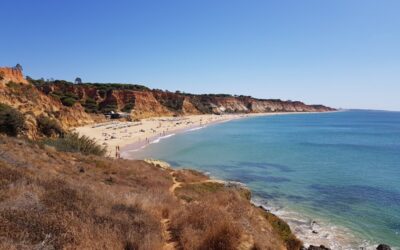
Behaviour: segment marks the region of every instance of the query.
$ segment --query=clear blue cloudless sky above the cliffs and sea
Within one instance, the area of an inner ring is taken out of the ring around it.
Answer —
[[[399,0],[9,0],[0,13],[0,65],[33,78],[400,110]]]

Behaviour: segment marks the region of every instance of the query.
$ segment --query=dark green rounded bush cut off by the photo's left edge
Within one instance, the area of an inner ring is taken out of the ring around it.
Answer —
[[[18,110],[0,103],[0,133],[17,136],[24,130],[24,115]]]

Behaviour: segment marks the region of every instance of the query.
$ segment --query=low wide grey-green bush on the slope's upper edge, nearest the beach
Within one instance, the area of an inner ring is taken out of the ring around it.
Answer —
[[[63,137],[45,139],[44,144],[55,147],[58,151],[78,152],[84,155],[103,156],[106,148],[100,146],[87,136],[80,136],[77,133],[65,134]]]

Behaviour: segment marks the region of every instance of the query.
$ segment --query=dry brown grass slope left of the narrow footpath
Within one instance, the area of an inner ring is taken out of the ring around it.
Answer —
[[[109,175],[114,183],[104,185]],[[1,137],[0,248],[160,249],[162,213],[176,202],[171,185],[141,161],[49,153]]]

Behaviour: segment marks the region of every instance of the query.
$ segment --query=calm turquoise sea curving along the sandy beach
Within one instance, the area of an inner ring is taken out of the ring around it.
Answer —
[[[356,237],[354,248],[400,247],[400,112],[254,117],[178,134],[132,156],[243,182],[263,204],[320,223],[320,238],[337,241],[337,226],[341,237],[346,229]]]

